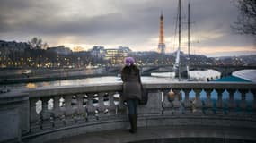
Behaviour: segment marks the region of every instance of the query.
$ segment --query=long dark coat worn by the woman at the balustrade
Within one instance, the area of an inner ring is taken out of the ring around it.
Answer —
[[[131,71],[129,74],[121,71],[123,81],[123,100],[141,99],[141,81],[139,71]]]

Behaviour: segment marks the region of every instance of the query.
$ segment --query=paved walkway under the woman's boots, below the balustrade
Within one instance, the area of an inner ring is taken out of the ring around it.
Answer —
[[[228,139],[249,139],[248,142],[256,142],[255,130],[243,128],[203,127],[203,126],[161,126],[138,128],[136,134],[130,134],[128,130],[105,130],[101,132],[86,133],[71,138],[57,139],[54,143],[120,143],[120,142],[181,142],[182,139],[202,138],[219,139],[221,142]],[[253,137],[254,136],[254,137]],[[165,141],[163,140],[165,139]],[[172,141],[166,141],[172,139]],[[144,140],[144,141],[143,141]],[[149,141],[151,140],[151,141]],[[160,141],[157,141],[160,140]],[[162,141],[161,141],[162,140]],[[175,141],[176,140],[176,141]],[[188,142],[188,139],[185,139]],[[250,141],[251,140],[251,141]],[[219,142],[217,141],[217,142]],[[236,140],[237,141],[237,140]],[[241,142],[242,140],[238,140]],[[190,141],[189,141],[190,142]],[[199,141],[202,142],[202,141]],[[203,141],[203,142],[206,142]],[[208,142],[208,141],[207,141]],[[211,140],[210,142],[215,142]]]

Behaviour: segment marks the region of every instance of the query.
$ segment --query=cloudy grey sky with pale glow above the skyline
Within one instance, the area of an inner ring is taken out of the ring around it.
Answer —
[[[187,52],[187,4],[181,0],[181,46]],[[191,53],[207,56],[256,54],[250,36],[234,33],[234,0],[190,0]],[[177,49],[178,0],[0,0],[0,39],[42,38],[49,46],[129,46],[156,51],[163,11],[167,52]]]

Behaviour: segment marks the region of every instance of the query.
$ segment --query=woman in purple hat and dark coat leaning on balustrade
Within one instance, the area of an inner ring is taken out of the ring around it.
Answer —
[[[123,81],[123,100],[128,104],[128,119],[131,129],[130,133],[137,131],[137,105],[141,99],[141,80],[139,69],[132,57],[125,58],[125,66],[121,70]]]

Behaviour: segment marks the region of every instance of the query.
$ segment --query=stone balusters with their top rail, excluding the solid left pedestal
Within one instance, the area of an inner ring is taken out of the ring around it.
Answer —
[[[139,114],[253,114],[255,85],[237,83],[145,84],[149,100]],[[30,92],[31,131],[126,114],[121,84],[87,85]],[[172,96],[171,92],[174,93]]]

